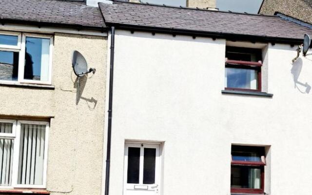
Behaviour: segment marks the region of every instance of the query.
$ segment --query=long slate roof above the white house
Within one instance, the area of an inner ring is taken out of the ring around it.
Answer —
[[[278,16],[230,13],[143,3],[114,1],[99,3],[107,25],[140,26],[206,32],[218,35],[240,35],[266,39],[303,39],[312,29]]]

